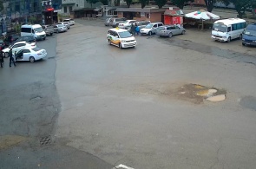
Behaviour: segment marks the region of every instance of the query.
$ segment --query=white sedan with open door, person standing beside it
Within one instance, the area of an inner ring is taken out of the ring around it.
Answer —
[[[47,56],[47,52],[45,49],[39,49],[37,47],[26,47],[24,49],[19,50],[16,53],[15,59],[16,59],[16,62],[18,61],[35,62],[43,59],[46,56]]]

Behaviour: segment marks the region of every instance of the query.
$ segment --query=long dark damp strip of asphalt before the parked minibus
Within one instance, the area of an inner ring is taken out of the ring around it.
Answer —
[[[178,46],[181,47],[183,49],[191,49],[194,51],[198,51],[204,54],[209,54],[209,55],[217,55],[226,59],[232,59],[236,62],[244,62],[244,63],[249,63],[249,64],[253,64],[254,66],[256,66],[256,58],[253,57],[253,55],[246,55],[243,53],[239,53],[239,52],[233,52],[231,50],[228,49],[220,49],[217,47],[213,47],[213,46],[207,46],[204,44],[200,44],[200,43],[196,43],[196,42],[192,42],[192,41],[188,41],[188,40],[181,40],[181,39],[170,39],[170,38],[161,38],[158,39],[158,41],[162,40],[164,42],[168,42],[171,43],[174,46]]]

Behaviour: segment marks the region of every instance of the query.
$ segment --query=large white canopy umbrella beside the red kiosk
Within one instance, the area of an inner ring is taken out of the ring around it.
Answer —
[[[206,10],[197,10],[197,11],[186,14],[185,17],[200,19],[202,21],[202,25],[203,25],[203,21],[205,20],[220,19],[220,16],[217,16]],[[203,29],[203,26],[202,26],[202,29]]]

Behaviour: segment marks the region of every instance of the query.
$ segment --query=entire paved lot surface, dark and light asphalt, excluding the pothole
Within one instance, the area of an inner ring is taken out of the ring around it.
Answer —
[[[256,58],[246,49],[137,36],[120,50],[102,21],[76,22],[38,42],[43,61],[0,69],[0,168],[256,166]],[[187,83],[225,89],[226,101],[180,100]]]

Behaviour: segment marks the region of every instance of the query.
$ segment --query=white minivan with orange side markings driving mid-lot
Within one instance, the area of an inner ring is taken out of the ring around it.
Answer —
[[[122,48],[134,48],[137,44],[136,39],[127,29],[108,29],[108,44]]]

